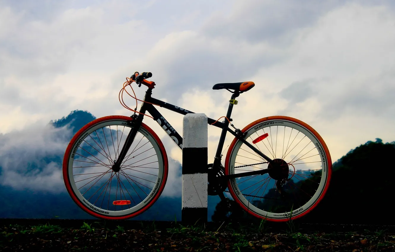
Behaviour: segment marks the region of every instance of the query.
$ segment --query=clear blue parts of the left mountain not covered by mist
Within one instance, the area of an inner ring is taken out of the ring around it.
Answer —
[[[47,129],[46,135],[50,134],[52,138],[45,138],[45,141],[58,142],[61,140],[65,143],[64,147],[56,154],[48,155],[34,152],[36,155],[29,157],[24,162],[25,167],[20,171],[21,176],[26,174],[40,176],[43,172],[45,173],[45,165],[50,163],[56,164],[59,167],[58,169],[61,170],[63,155],[68,142],[79,129],[94,119],[96,117],[88,111],[74,110],[66,117],[51,120],[49,126],[53,127]],[[52,130],[53,128],[56,130]],[[43,131],[45,132],[45,129]],[[18,137],[18,135],[14,134],[12,136]],[[32,146],[31,148],[35,147]],[[179,170],[181,170],[181,165]],[[2,167],[0,165],[0,176],[1,174]],[[2,199],[0,218],[94,218],[73,202],[63,184],[60,192],[43,192],[42,190],[26,188],[15,189],[12,186],[0,185],[0,198]],[[161,196],[149,210],[131,220],[181,220],[181,202],[181,196]],[[211,215],[214,213],[215,205],[218,202],[218,196],[209,196],[209,220],[211,220]]]

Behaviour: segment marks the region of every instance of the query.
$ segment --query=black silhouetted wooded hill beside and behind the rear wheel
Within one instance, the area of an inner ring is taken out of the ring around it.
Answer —
[[[395,143],[368,141],[333,164],[332,178],[324,199],[299,219],[308,223],[395,225],[394,164]],[[305,186],[306,181],[300,186]],[[213,221],[255,220],[240,211],[237,204],[227,212],[218,204]],[[266,202],[269,203],[270,202]],[[263,202],[262,204],[265,204]]]

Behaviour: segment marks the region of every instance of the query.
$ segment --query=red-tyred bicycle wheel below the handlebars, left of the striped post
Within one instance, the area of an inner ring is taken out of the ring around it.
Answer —
[[[98,118],[71,139],[63,159],[63,179],[73,201],[97,218],[124,220],[154,204],[167,180],[166,150],[158,135],[141,123],[119,171],[117,160],[133,119]]]

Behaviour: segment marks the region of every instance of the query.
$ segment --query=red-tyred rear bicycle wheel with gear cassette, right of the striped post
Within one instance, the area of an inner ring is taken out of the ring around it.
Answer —
[[[265,117],[246,126],[244,139],[272,161],[261,158],[235,138],[229,146],[225,175],[270,168],[269,173],[228,181],[233,199],[248,213],[287,221],[310,212],[322,200],[332,162],[322,137],[292,117]]]

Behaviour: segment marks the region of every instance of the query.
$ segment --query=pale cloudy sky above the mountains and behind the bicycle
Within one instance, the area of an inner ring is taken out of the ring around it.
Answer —
[[[214,119],[230,98],[214,84],[253,81],[233,124],[297,118],[322,136],[333,162],[377,137],[395,141],[394,45],[395,4],[384,0],[0,0],[0,183],[21,188],[10,153],[23,164],[64,153],[50,120],[75,109],[131,115],[118,93],[135,71],[152,72],[153,97]],[[143,87],[133,86],[140,99]],[[182,115],[159,110],[182,132]],[[170,172],[179,169],[181,150],[144,122],[162,139]],[[209,126],[209,162],[219,134]],[[61,167],[29,176],[22,187],[64,190]],[[175,176],[164,194],[181,195]]]

